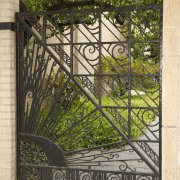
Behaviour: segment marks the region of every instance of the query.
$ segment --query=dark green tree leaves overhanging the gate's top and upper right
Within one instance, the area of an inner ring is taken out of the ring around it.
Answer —
[[[23,0],[25,3],[27,9],[29,11],[43,11],[47,10],[48,7],[55,5],[57,3],[60,3],[60,0]],[[65,0],[64,2],[75,2],[75,1],[69,1]],[[162,0],[95,0],[95,4],[97,3],[98,6],[103,5],[111,5],[111,6],[123,6],[123,5],[145,5],[145,4],[162,4]],[[95,6],[85,6],[85,7],[76,7],[76,9],[92,9],[96,8]],[[58,15],[57,15],[58,16]],[[106,18],[116,19],[116,23],[120,23],[118,19],[123,22],[123,25],[120,26],[121,32],[126,32],[125,37],[128,40],[129,38],[131,41],[147,41],[147,40],[158,40],[160,37],[160,26],[161,26],[161,16],[159,10],[157,10],[157,13],[155,10],[149,9],[149,10],[134,10],[131,12],[131,15],[129,12],[111,12],[104,15]],[[131,18],[129,18],[131,16]],[[69,21],[68,16],[59,16],[56,17],[56,20],[59,24],[65,23],[66,21]],[[95,17],[92,17],[92,14],[88,16],[88,14],[82,14],[82,13],[76,13],[75,15],[75,21],[78,20],[79,22],[86,22],[86,24],[91,24],[96,22]],[[128,21],[127,21],[128,19]],[[129,22],[131,19],[131,22]],[[129,23],[131,23],[131,34],[128,34],[128,28]],[[78,26],[78,25],[76,25]],[[119,26],[119,25],[118,25]],[[51,34],[48,37],[55,36],[59,34],[60,32],[54,28],[53,26],[50,26]],[[62,31],[66,28],[65,26],[60,27]],[[143,49],[143,47],[146,46],[143,43],[141,45],[139,44],[131,44],[131,48],[133,49],[132,55],[136,58],[141,58],[141,53],[139,53],[139,50]],[[157,48],[157,45],[151,43],[147,45],[147,48],[145,50],[146,52],[149,52],[149,57],[157,57],[159,56],[159,48]]]

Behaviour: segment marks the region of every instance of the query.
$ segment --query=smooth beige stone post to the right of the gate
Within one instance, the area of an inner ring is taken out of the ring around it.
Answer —
[[[180,1],[164,0],[162,177],[180,180]]]

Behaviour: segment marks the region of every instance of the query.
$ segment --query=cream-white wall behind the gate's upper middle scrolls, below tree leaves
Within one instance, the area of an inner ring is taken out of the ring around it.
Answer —
[[[70,30],[68,29],[64,33],[68,33],[69,31]],[[88,26],[88,29],[84,25],[79,25],[78,28],[74,30],[73,40],[71,40],[69,34],[66,36],[66,38],[65,37],[63,38],[60,35],[51,37],[48,39],[47,42],[49,44],[60,44],[60,39],[61,39],[61,43],[70,43],[70,42],[79,43],[77,45],[74,44],[74,48],[73,48],[74,73],[89,75],[90,73],[94,73],[93,67],[97,68],[97,66],[95,65],[99,62],[99,56],[106,57],[106,56],[112,56],[113,54],[115,57],[120,57],[123,54],[118,52],[119,48],[121,49],[120,51],[123,50],[122,46],[117,46],[114,48],[114,45],[112,45],[108,49],[108,46],[110,44],[101,46],[101,53],[100,53],[99,44],[98,44],[99,39],[101,39],[101,42],[106,42],[106,43],[119,42],[124,40],[124,37],[117,30],[117,28],[114,25],[112,25],[111,21],[108,21],[105,18],[102,18],[101,31],[102,31],[101,33],[102,36],[99,37],[98,22],[96,22],[92,26]],[[70,45],[64,45],[63,49],[70,57],[71,56]],[[125,54],[127,50],[124,49],[124,51]],[[67,66],[66,68],[69,70]]]

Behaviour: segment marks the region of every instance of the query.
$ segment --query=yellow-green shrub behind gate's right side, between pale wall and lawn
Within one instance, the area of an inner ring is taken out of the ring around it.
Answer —
[[[129,69],[131,66],[131,69]],[[101,71],[101,72],[100,72]],[[98,73],[103,75],[110,74],[115,75],[119,74],[122,77],[116,79],[108,80],[109,84],[113,84],[114,89],[110,90],[111,94],[115,97],[118,94],[124,96],[128,90],[129,78],[128,74],[134,74],[134,77],[131,79],[132,86],[139,91],[155,91],[158,89],[158,82],[154,76],[149,76],[158,74],[159,64],[153,62],[153,60],[144,59],[128,59],[127,57],[121,58],[112,58],[107,56],[101,60],[101,70],[99,67],[96,68],[95,75]],[[105,82],[107,77],[104,77],[102,84],[107,86]],[[95,84],[98,85],[99,77],[95,76]]]

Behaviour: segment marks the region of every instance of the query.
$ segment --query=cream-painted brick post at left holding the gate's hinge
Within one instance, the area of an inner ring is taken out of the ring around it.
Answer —
[[[19,0],[0,0],[0,180],[16,179],[16,41]]]

